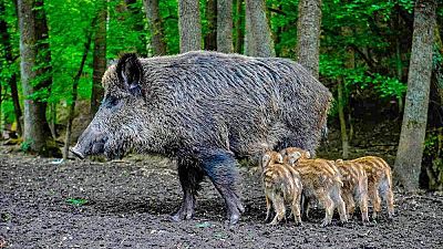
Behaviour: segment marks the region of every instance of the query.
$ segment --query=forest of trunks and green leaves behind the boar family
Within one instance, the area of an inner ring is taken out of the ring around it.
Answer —
[[[124,52],[280,56],[333,93],[328,122],[340,157],[374,139],[365,145],[395,151],[404,187],[420,176],[421,187],[441,190],[442,25],[435,0],[0,0],[1,136],[25,153],[68,155],[100,106],[101,76]]]

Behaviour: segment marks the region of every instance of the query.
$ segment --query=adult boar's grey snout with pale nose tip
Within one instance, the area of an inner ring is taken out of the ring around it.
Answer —
[[[104,145],[107,142],[107,136],[87,127],[86,131],[79,137],[76,145],[70,151],[80,159],[84,159],[89,155],[100,155],[104,153]]]

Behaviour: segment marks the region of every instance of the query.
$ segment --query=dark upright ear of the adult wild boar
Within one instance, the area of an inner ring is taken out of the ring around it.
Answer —
[[[135,53],[124,54],[119,60],[116,72],[123,89],[130,91],[134,95],[142,94],[141,82],[143,69]]]

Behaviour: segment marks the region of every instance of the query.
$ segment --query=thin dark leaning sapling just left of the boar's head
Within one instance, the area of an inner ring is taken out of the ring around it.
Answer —
[[[99,18],[101,18],[101,15],[102,15],[102,13],[97,14]],[[91,27],[95,25],[96,20],[97,20],[96,18],[94,18],[92,20]],[[89,31],[86,33],[86,42],[84,43],[82,61],[80,62],[79,71],[75,74],[73,83],[72,83],[72,103],[70,104],[69,112],[68,112],[68,124],[66,124],[66,135],[64,138],[64,147],[63,147],[63,159],[68,159],[68,155],[69,155],[69,146],[71,144],[71,134],[72,134],[72,121],[74,120],[74,114],[75,114],[78,86],[79,86],[80,76],[82,75],[82,72],[83,72],[84,63],[86,62],[86,58],[90,52],[91,41],[92,41],[92,32]]]

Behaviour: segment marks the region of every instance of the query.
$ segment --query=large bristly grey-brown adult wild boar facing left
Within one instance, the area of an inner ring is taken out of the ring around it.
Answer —
[[[125,54],[102,82],[103,103],[72,152],[176,158],[184,197],[174,219],[192,218],[207,176],[237,222],[244,207],[236,158],[289,146],[313,154],[331,101],[328,89],[290,60],[204,51]]]

